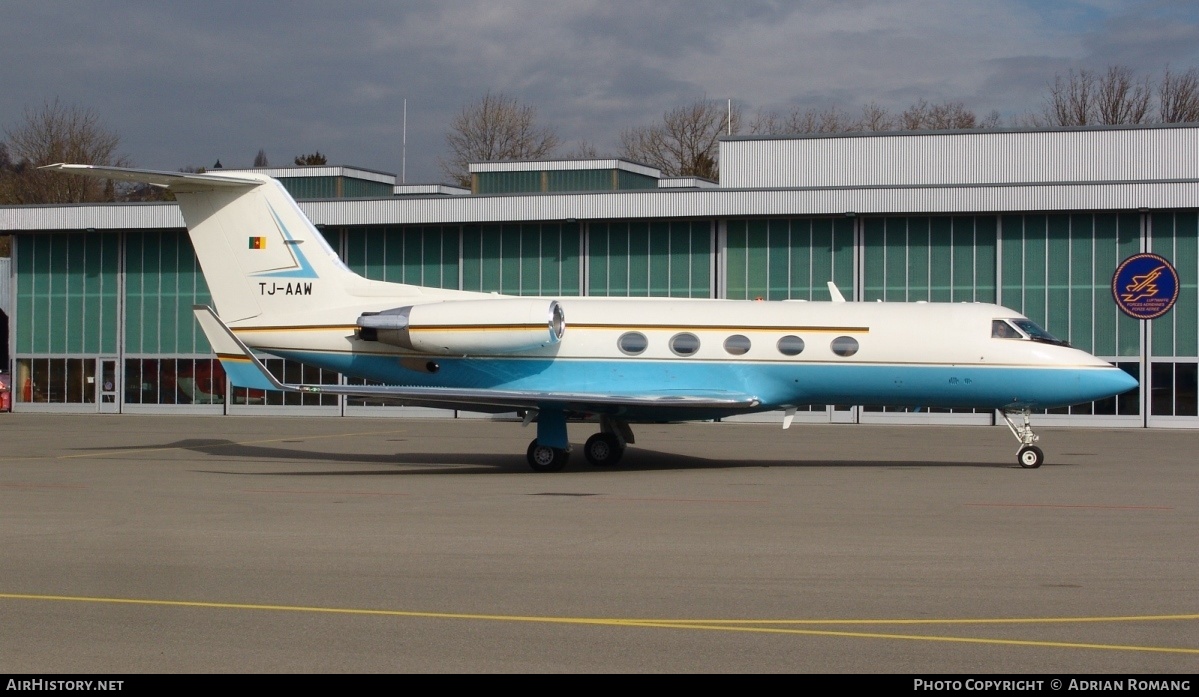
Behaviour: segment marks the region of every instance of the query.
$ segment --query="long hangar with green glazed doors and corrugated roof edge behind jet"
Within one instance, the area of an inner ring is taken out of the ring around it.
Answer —
[[[862,302],[998,302],[1141,381],[1038,423],[1199,427],[1199,126],[731,137],[719,148],[718,182],[616,158],[474,164],[469,191],[354,167],[259,172],[370,278],[763,300],[827,300],[833,281]],[[0,208],[5,234],[14,410],[434,413],[227,385],[191,314],[209,294],[171,203]],[[1169,259],[1180,280],[1174,307],[1151,320],[1113,296],[1117,266],[1140,252]],[[347,379],[267,365],[285,381]],[[827,404],[799,419],[994,414]]]

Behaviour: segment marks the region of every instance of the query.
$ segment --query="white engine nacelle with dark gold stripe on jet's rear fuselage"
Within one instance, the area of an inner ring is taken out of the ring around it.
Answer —
[[[356,336],[439,355],[507,354],[562,340],[566,317],[556,300],[447,300],[363,312]]]

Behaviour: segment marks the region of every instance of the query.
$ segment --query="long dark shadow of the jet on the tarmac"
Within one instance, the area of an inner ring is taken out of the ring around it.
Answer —
[[[296,439],[296,444],[303,443]],[[279,447],[269,445],[254,445],[235,443],[231,440],[215,438],[183,439],[161,445],[146,445],[143,447],[112,449],[122,451],[137,450],[188,450],[205,455],[212,464],[266,464],[320,462],[326,464],[374,464],[392,469],[372,470],[303,470],[303,471],[247,471],[229,469],[203,469],[215,474],[240,474],[240,475],[269,475],[269,476],[320,476],[320,475],[428,475],[428,474],[512,474],[520,473],[537,475],[530,471],[524,456],[513,452],[398,452],[398,453],[370,453],[370,452],[327,452],[305,450],[303,447]],[[928,467],[970,467],[970,468],[1004,468],[1019,469],[1012,463],[996,462],[962,462],[962,461],[893,461],[893,459],[767,459],[767,458],[737,458],[737,459],[713,459],[697,457],[692,455],[680,455],[677,452],[662,452],[643,447],[631,447],[623,461],[615,467],[600,468],[591,465],[582,455],[582,447],[576,447],[576,452],[566,468],[566,473],[621,473],[621,471],[653,471],[653,470],[679,470],[679,469],[731,469],[749,467],[787,467],[787,468],[878,468],[878,469],[920,469]],[[1060,464],[1059,464],[1060,467]],[[553,475],[541,475],[553,476]]]

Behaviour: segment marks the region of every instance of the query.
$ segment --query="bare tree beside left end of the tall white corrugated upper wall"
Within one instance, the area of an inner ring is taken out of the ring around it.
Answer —
[[[621,156],[657,167],[667,176],[715,180],[719,176],[721,136],[740,127],[740,107],[700,98],[667,110],[661,124],[622,131]]]

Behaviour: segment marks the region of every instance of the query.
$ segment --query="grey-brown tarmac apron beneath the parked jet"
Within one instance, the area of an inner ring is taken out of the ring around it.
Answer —
[[[0,414],[0,673],[1199,672],[1197,431],[594,431]]]

